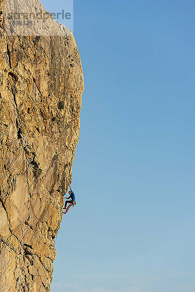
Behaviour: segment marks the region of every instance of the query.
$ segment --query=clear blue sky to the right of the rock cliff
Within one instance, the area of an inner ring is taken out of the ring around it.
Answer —
[[[77,205],[51,291],[195,292],[195,1],[74,0],[74,36]]]

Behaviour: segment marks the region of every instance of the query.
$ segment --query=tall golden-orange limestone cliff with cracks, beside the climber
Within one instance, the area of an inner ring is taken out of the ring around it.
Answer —
[[[4,4],[0,0],[0,292],[45,292],[79,138],[83,72],[64,26],[52,18],[64,36],[8,36]]]

